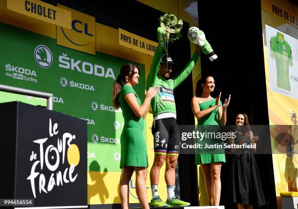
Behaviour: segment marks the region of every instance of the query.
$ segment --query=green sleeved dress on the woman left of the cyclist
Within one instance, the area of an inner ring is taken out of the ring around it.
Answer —
[[[133,93],[141,105],[141,100],[134,89],[124,85],[118,97],[124,118],[124,127],[121,133],[120,168],[127,166],[148,167],[147,148],[143,137],[144,120],[134,114],[124,99],[128,93]]]

